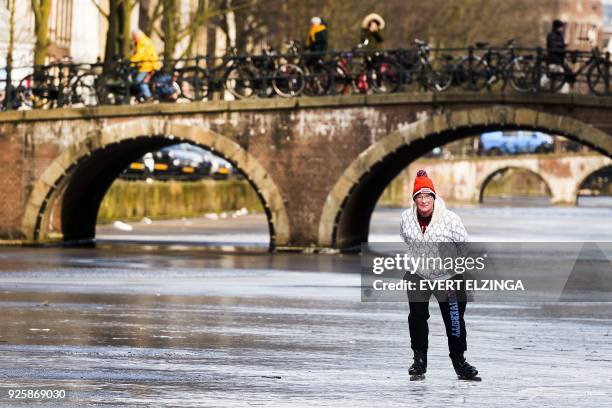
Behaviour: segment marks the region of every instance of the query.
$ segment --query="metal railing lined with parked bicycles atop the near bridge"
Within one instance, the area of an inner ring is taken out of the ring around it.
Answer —
[[[146,64],[148,62],[141,62]],[[40,109],[65,106],[189,102],[210,99],[325,96],[393,92],[579,93],[610,96],[610,55],[522,48],[509,41],[492,47],[431,48],[415,40],[410,48],[371,51],[288,51],[259,55],[196,56],[172,61],[145,74],[150,97],[138,81],[143,65],[116,59],[110,63],[57,63],[0,79],[0,108]],[[20,67],[23,68],[23,67]],[[143,76],[143,75],[141,75]]]

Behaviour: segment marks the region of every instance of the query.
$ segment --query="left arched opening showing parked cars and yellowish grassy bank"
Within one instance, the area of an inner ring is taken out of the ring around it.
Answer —
[[[270,234],[243,173],[209,150],[178,143],[146,153],[114,180],[98,211],[96,242],[261,250]]]

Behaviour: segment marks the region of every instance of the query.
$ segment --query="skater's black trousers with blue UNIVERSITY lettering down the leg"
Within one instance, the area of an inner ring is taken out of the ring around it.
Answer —
[[[422,280],[416,274],[408,275],[406,279],[415,282],[417,288],[419,288],[419,281]],[[451,279],[461,280],[463,276],[455,275]],[[431,289],[408,291],[410,346],[413,350],[427,351],[429,335],[427,319],[429,319],[429,299],[431,295],[436,297],[440,306],[444,326],[446,326],[446,337],[448,338],[450,353],[463,353],[467,350],[465,321],[463,320],[467,297],[464,288],[458,291]]]

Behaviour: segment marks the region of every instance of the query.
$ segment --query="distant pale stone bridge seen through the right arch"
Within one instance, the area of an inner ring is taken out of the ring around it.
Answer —
[[[493,177],[505,170],[517,169],[536,175],[546,186],[552,204],[575,205],[586,178],[611,165],[612,159],[595,152],[419,159],[403,172],[406,177],[402,184],[406,184],[404,191],[411,189],[409,178],[414,177],[417,167],[424,168],[445,199],[478,203],[483,201],[484,190]]]

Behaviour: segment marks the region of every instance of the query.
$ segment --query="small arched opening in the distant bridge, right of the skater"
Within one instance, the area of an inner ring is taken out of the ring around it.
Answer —
[[[538,173],[521,167],[503,167],[485,178],[479,203],[504,206],[548,206],[552,193]]]

